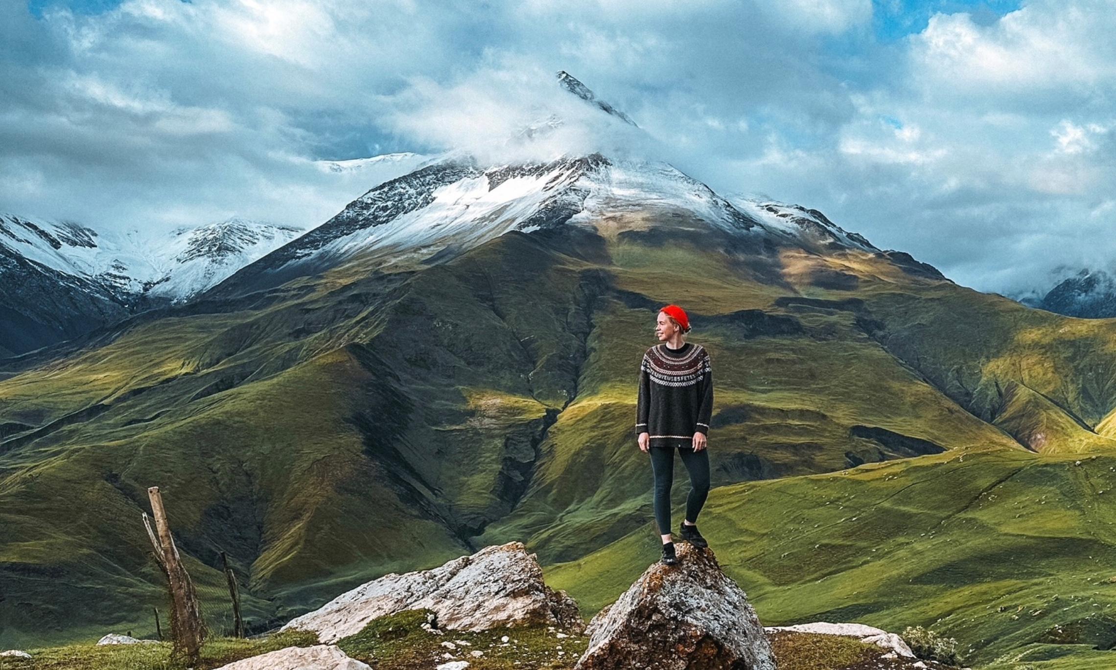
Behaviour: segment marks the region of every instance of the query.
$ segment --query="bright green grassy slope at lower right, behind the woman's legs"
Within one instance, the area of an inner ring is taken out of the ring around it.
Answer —
[[[978,664],[1076,654],[1116,645],[1116,454],[1077,463],[965,449],[722,486],[701,527],[764,625],[925,625]],[[591,615],[657,560],[656,541],[647,523],[547,581]]]

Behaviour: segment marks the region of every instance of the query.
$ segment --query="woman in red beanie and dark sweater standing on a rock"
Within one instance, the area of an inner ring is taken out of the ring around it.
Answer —
[[[677,563],[671,538],[671,484],[674,482],[674,450],[690,473],[686,517],[679,531],[694,546],[709,546],[698,532],[698,513],[709,495],[706,435],[713,411],[713,371],[709,352],[701,344],[683,341],[690,319],[676,304],[660,312],[655,323],[658,344],[643,355],[639,394],[636,402],[636,439],[651,454],[655,475],[655,522],[663,540],[662,562]]]

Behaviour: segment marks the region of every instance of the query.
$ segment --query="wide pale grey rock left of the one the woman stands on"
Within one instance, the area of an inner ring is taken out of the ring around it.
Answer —
[[[427,608],[437,627],[480,631],[545,624],[585,630],[577,602],[542,582],[542,569],[523,543],[509,542],[454,559],[440,567],[391,573],[338,595],[280,630],[315,631],[321,642],[359,632],[377,616]]]

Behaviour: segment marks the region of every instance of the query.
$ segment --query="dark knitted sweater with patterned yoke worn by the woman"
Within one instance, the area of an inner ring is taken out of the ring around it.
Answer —
[[[635,433],[651,434],[652,447],[691,447],[694,433],[709,434],[713,370],[709,352],[686,342],[647,349],[639,365]]]

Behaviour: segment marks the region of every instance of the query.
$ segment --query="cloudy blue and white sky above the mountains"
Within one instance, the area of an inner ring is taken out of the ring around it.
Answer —
[[[484,146],[565,69],[714,190],[1013,293],[1116,268],[1114,33],[1109,0],[0,0],[0,211],[312,226],[375,176],[316,161]]]

